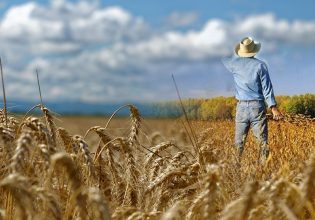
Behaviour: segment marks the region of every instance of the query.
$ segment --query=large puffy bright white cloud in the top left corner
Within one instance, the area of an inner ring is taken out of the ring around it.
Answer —
[[[73,52],[85,46],[138,39],[145,25],[120,7],[99,8],[95,3],[63,0],[42,6],[28,2],[10,8],[0,23],[4,40],[38,54]]]

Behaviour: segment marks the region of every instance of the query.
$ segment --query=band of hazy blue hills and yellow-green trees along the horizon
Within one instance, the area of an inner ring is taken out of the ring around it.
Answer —
[[[298,96],[277,96],[276,100],[282,112],[304,114],[315,117],[315,94]],[[215,97],[210,99],[185,99],[183,106],[190,119],[232,119],[235,116],[237,100],[234,97]],[[26,101],[9,102],[8,111],[24,113],[38,103]],[[60,115],[111,115],[122,105],[135,105],[143,117],[176,118],[183,115],[178,101],[156,103],[86,103],[86,102],[45,102],[52,112]],[[1,107],[0,107],[1,108]],[[128,116],[124,108],[118,116]]]

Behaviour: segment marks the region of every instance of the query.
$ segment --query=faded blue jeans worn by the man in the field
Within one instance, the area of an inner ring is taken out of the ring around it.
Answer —
[[[260,147],[260,153],[267,158],[269,147],[265,102],[262,100],[239,101],[236,107],[235,124],[235,145],[239,150],[240,156],[244,151],[249,128],[252,127]]]

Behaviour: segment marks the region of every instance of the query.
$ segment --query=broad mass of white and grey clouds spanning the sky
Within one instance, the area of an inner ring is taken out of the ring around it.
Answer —
[[[185,26],[197,16],[185,15],[168,19]],[[25,3],[0,20],[0,54],[10,73],[11,98],[37,99],[36,68],[46,99],[164,99],[174,93],[171,73],[189,82],[184,95],[214,94],[210,87],[222,95],[230,84],[218,74],[223,71],[218,59],[247,35],[262,41],[265,53],[282,44],[314,46],[315,22],[262,14],[234,21],[209,19],[199,30],[161,33],[125,9],[101,7],[96,1]],[[199,84],[191,85],[192,80]]]

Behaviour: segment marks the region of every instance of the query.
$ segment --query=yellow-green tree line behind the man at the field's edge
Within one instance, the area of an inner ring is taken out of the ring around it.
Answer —
[[[276,97],[280,111],[315,117],[315,94]],[[237,100],[234,97],[215,97],[209,99],[184,99],[157,103],[154,115],[158,117],[181,117],[183,109],[190,119],[219,120],[233,119]],[[268,110],[269,111],[269,110]]]

